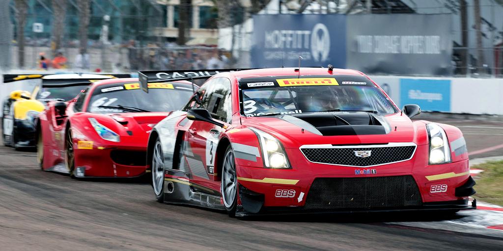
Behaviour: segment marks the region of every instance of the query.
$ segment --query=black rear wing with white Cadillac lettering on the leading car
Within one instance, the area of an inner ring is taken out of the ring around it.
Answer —
[[[174,71],[139,71],[141,89],[148,93],[148,83],[171,82],[180,80],[210,78],[220,72],[242,71],[250,69],[217,69],[217,70],[174,70]]]

